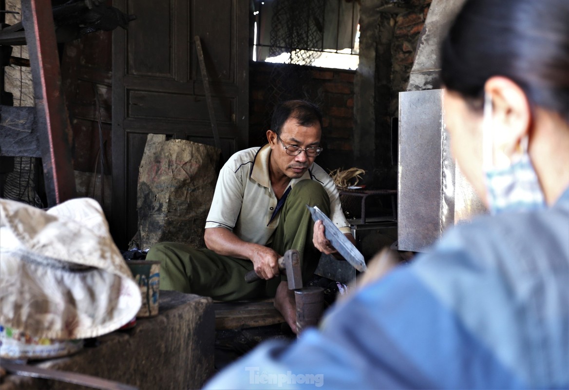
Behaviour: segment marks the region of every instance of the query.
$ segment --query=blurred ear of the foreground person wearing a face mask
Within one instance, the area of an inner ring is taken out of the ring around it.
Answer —
[[[514,81],[502,77],[490,77],[484,92],[492,99],[492,126],[495,147],[511,157],[519,150],[521,141],[529,136],[531,109],[523,90]]]

